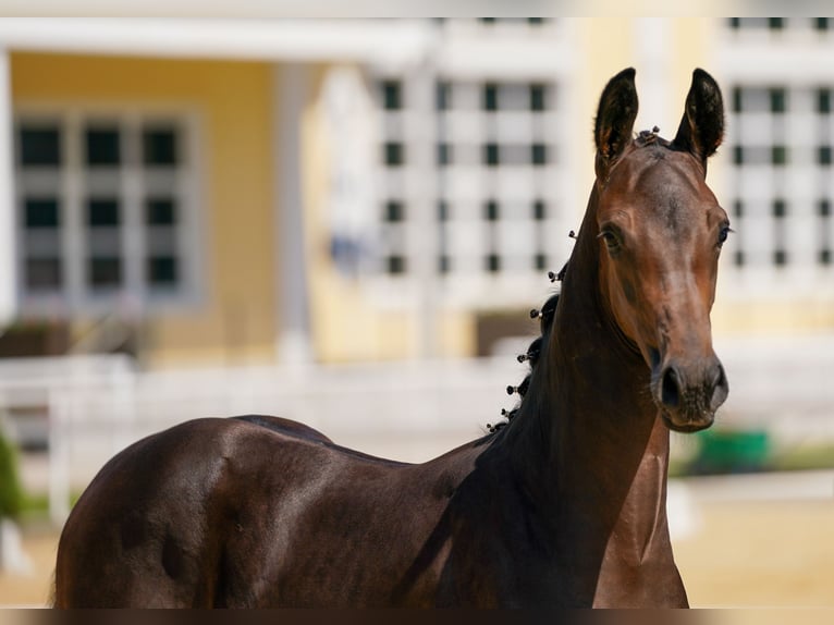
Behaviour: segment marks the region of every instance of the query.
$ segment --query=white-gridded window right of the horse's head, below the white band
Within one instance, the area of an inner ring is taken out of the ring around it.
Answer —
[[[735,197],[731,212],[734,265],[784,268],[796,264],[829,265],[811,221],[805,217],[827,210],[792,191],[797,176],[820,185],[824,201],[832,187],[831,87],[827,85],[737,84],[732,88],[728,144]],[[786,200],[790,198],[790,204]],[[818,228],[829,225],[820,213]],[[801,241],[808,241],[802,246]],[[806,247],[806,249],[804,249]]]

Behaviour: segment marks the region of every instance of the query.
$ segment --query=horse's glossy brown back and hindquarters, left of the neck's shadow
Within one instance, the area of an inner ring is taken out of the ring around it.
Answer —
[[[59,542],[56,605],[347,604],[377,588],[368,602],[384,603],[387,584],[368,575],[407,568],[465,471],[440,473],[444,490],[432,466],[277,417],[188,421],[125,449],[89,485]],[[352,571],[357,550],[376,573]],[[324,583],[333,576],[356,586]]]

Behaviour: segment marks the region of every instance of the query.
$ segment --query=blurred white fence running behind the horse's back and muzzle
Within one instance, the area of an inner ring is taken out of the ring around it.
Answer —
[[[731,382],[720,422],[763,426],[785,439],[834,439],[834,336],[716,341],[716,351]],[[0,417],[19,428],[40,419],[50,507],[61,523],[71,490],[114,453],[191,418],[279,415],[347,446],[421,461],[482,434],[501,407],[512,407],[504,389],[525,370],[511,355],[154,372],[116,356],[0,360]]]

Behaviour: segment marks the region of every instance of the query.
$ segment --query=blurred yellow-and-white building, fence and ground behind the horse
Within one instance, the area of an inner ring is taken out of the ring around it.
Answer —
[[[42,604],[100,466],[266,413],[429,459],[511,408],[593,180],[599,94],[727,133],[714,343],[673,437],[699,605],[834,605],[834,20],[0,19],[0,603]]]

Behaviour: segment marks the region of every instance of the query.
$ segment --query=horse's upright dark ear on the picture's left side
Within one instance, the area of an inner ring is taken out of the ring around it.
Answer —
[[[609,81],[602,91],[593,124],[598,176],[606,172],[631,142],[631,131],[637,119],[635,73],[634,68],[623,70]]]

